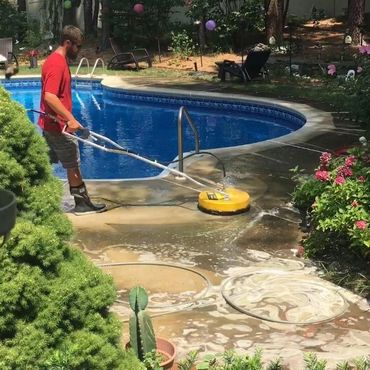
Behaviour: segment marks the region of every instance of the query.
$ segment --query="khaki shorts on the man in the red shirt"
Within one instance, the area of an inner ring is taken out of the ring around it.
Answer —
[[[43,136],[49,146],[51,163],[61,162],[66,169],[80,166],[80,151],[77,139],[61,132],[43,131]]]

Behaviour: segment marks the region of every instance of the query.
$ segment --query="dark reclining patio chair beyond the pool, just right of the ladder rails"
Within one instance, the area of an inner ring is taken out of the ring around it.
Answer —
[[[139,70],[140,62],[148,63],[148,67],[152,66],[152,59],[146,49],[141,48],[122,52],[113,38],[109,38],[109,42],[115,55],[108,62],[108,69],[121,69],[134,64],[135,69]]]

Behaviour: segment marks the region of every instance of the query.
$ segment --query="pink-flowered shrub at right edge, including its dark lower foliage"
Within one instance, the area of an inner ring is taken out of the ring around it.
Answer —
[[[306,255],[322,260],[331,280],[366,294],[370,265],[370,157],[368,144],[365,139],[362,141],[364,145],[346,156],[323,153],[314,176],[295,176],[300,182],[292,198],[297,208],[309,214],[311,225],[303,241]]]

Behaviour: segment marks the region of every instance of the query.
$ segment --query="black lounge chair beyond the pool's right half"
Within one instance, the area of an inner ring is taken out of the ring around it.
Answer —
[[[218,77],[225,81],[226,73],[239,77],[243,82],[251,81],[258,76],[267,77],[268,71],[265,64],[271,54],[271,49],[264,44],[257,44],[248,51],[243,63],[236,63],[232,60],[216,62],[219,71]]]

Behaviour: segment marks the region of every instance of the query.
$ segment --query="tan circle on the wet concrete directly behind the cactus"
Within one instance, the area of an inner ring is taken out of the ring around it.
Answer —
[[[118,290],[118,302],[128,305],[128,293],[142,286],[149,295],[148,308],[172,309],[203,298],[210,287],[201,273],[187,267],[161,263],[111,263],[100,265]]]

